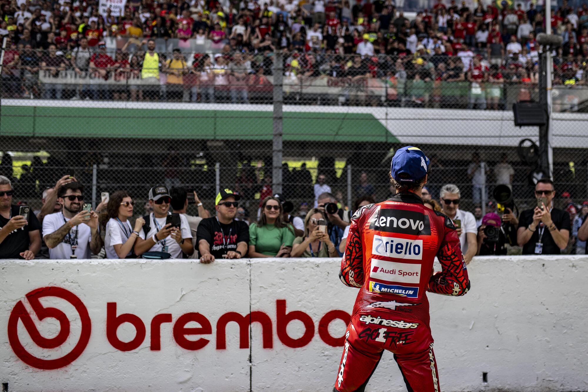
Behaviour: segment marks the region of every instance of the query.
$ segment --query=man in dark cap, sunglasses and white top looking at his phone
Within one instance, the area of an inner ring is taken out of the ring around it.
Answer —
[[[145,224],[135,241],[136,255],[162,252],[169,254],[162,255],[162,258],[183,258],[183,254],[189,256],[194,252],[188,220],[180,214],[169,214],[171,202],[167,187],[159,185],[149,190],[149,205],[153,212],[143,217]]]

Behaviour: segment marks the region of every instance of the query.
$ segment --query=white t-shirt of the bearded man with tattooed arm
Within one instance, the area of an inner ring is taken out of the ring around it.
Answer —
[[[45,215],[45,218],[43,219],[43,237],[59,230],[59,228],[67,221],[69,221],[69,218],[65,218],[64,214],[61,212]],[[76,231],[78,233],[77,237]],[[88,259],[91,254],[89,247],[90,241],[92,241],[92,229],[85,223],[81,223],[69,230],[69,234],[65,235],[61,244],[58,244],[53,249],[49,248],[49,258],[66,259],[72,254],[75,254],[77,258]],[[74,242],[74,244],[72,244],[72,242]],[[78,247],[74,250],[74,253],[72,253],[72,245]]]

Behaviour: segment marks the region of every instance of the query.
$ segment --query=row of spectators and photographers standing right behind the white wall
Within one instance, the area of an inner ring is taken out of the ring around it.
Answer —
[[[475,175],[479,167],[472,165]],[[495,174],[505,180],[502,185],[512,187],[508,165],[501,162]],[[211,263],[219,258],[337,257],[345,251],[353,212],[382,201],[376,200],[368,175],[359,178],[352,206],[345,205],[340,192],[332,193],[328,178],[320,173],[313,185],[314,201],[295,206],[283,194],[273,193],[267,174],[249,190],[243,182],[234,190],[221,189],[210,206],[212,214],[195,191],[181,184],[155,185],[141,216],[126,190],[106,192],[93,210],[81,182],[65,175],[44,190],[41,209],[24,216],[21,207],[27,202],[14,191],[11,180],[0,175],[0,258],[87,259],[93,254]],[[390,192],[394,194],[393,187]],[[455,184],[443,185],[438,195],[433,197],[429,187],[422,190],[425,207],[443,212],[455,223],[466,264],[475,255],[507,254],[515,247],[523,254],[587,251],[588,201],[576,205],[569,192],[563,192],[561,208],[555,207],[556,189],[547,178],[534,187],[537,204],[524,211],[508,205],[498,210],[492,202],[485,215],[480,204],[474,204],[473,213],[462,210],[462,192]],[[187,213],[191,204],[197,215]]]

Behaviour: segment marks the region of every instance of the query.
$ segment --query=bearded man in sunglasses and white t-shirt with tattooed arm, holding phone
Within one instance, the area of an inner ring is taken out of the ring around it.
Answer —
[[[63,209],[45,216],[43,240],[49,248],[49,258],[90,258],[90,251],[98,254],[102,238],[98,232],[98,214],[82,210],[83,185],[69,182],[57,191]]]

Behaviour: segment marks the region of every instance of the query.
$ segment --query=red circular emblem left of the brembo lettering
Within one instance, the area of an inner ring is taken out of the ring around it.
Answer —
[[[26,331],[31,336],[31,340],[41,348],[56,348],[64,344],[67,340],[69,336],[69,320],[67,316],[59,309],[43,307],[39,302],[39,298],[42,297],[58,297],[68,301],[74,306],[75,310],[78,311],[80,320],[82,321],[82,331],[78,343],[72,351],[61,358],[51,360],[37,358],[25,350],[18,338],[17,327],[20,318]],[[75,361],[88,345],[92,331],[90,316],[82,301],[74,293],[61,287],[37,288],[26,294],[26,299],[29,301],[29,304],[31,304],[31,308],[39,320],[42,321],[49,317],[55,318],[59,321],[59,333],[52,338],[42,337],[33,323],[31,315],[26,310],[25,305],[22,301],[18,301],[18,303],[14,305],[14,308],[12,308],[10,318],[8,319],[8,341],[10,342],[12,350],[14,350],[16,356],[21,358],[21,360],[29,366],[45,370],[64,367]]]

